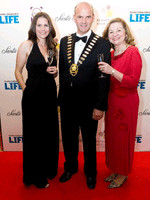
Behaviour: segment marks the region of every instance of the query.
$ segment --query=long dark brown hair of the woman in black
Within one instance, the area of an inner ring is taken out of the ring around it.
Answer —
[[[52,24],[52,20],[50,18],[50,16],[45,13],[45,12],[38,12],[31,23],[30,29],[28,31],[28,40],[31,40],[32,42],[36,42],[37,41],[37,36],[36,36],[36,23],[39,17],[44,17],[47,19],[48,24],[49,24],[49,35],[46,38],[46,44],[48,47],[48,50],[51,50],[53,52],[53,54],[56,56],[57,55],[57,50],[56,50],[56,42],[54,41],[54,38],[56,36],[56,31],[54,29],[54,26]]]

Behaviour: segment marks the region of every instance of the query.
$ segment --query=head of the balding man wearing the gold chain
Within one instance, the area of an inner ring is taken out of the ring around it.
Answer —
[[[79,4],[75,9],[73,17],[77,26],[77,32],[80,35],[84,35],[90,30],[94,20],[94,14],[89,4]]]

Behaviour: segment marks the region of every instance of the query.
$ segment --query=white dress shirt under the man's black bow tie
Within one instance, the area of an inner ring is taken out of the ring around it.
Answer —
[[[91,35],[91,30],[89,30],[86,34],[84,35],[79,35],[78,33],[76,33],[76,36],[78,37],[84,37],[84,36],[87,36],[87,41]],[[86,43],[87,43],[86,41]],[[75,61],[75,64],[77,64],[78,60],[79,60],[79,57],[86,45],[86,43],[84,43],[82,40],[79,40],[78,42],[75,43],[75,49],[74,49],[74,61]]]

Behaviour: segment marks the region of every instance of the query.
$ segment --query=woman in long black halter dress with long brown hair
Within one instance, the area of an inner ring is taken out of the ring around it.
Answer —
[[[17,52],[15,76],[23,90],[23,183],[47,188],[57,174],[59,129],[57,113],[56,36],[50,17],[40,12],[32,20],[28,40]],[[26,66],[28,78],[23,80]]]

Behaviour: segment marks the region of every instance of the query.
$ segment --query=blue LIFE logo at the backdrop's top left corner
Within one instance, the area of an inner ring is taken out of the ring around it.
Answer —
[[[0,13],[0,24],[19,24],[19,14]]]

